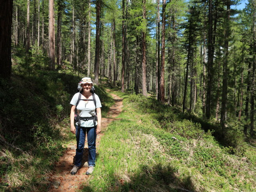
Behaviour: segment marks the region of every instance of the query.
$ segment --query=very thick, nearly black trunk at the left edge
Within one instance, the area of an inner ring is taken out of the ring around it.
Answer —
[[[12,72],[12,0],[1,1],[0,6],[0,77],[10,78]]]

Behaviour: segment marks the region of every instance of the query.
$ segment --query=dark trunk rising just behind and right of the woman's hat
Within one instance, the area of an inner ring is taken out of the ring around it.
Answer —
[[[101,0],[96,0],[96,40],[95,40],[95,64],[94,64],[94,80],[98,84],[99,80],[99,61],[100,61],[100,5]]]

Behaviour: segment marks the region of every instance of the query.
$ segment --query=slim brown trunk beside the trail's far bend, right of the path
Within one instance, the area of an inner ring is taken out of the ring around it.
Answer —
[[[125,31],[124,31],[124,0],[122,0],[122,88],[121,91],[124,92],[124,68],[125,68]]]

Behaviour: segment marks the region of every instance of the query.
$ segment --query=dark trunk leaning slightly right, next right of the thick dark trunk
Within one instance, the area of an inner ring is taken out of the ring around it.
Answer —
[[[224,62],[222,80],[222,102],[220,111],[220,124],[222,127],[222,137],[225,135],[226,108],[228,96],[228,41],[230,36],[230,0],[227,0],[227,11],[225,19],[225,39],[224,39]]]

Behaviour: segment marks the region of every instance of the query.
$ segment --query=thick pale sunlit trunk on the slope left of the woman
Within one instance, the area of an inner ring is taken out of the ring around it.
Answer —
[[[55,69],[54,48],[54,0],[49,0],[49,68]]]

